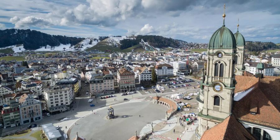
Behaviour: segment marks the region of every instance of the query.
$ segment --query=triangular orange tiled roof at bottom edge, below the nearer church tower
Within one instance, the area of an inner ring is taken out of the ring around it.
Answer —
[[[217,133],[218,132],[218,133]],[[250,139],[255,138],[236,120],[234,115],[228,116],[222,123],[206,130],[200,140],[232,140],[232,139]]]

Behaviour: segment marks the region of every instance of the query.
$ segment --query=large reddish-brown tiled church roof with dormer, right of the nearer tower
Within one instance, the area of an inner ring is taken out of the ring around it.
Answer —
[[[232,112],[236,118],[241,121],[279,129],[280,77],[236,76],[236,82],[235,93],[254,87],[242,99],[234,101]]]

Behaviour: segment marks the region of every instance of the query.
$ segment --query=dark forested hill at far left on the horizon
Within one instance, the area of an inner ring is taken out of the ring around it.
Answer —
[[[49,35],[36,30],[6,29],[0,30],[0,48],[23,44],[25,49],[39,49],[40,46],[75,45],[85,38]]]

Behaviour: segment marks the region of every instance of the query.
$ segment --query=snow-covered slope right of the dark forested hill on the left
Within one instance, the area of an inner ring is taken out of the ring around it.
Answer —
[[[92,43],[90,43],[90,40],[92,40]],[[94,41],[93,38],[87,38],[80,43],[71,46],[70,44],[60,44],[59,46],[51,47],[49,45],[42,46],[40,49],[36,49],[35,51],[64,51],[63,48],[65,48],[65,51],[75,51],[75,50],[85,50],[87,48],[90,48],[94,45],[96,45],[98,42]]]

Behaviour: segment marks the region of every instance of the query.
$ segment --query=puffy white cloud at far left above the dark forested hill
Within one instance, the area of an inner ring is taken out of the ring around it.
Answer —
[[[10,22],[15,24],[15,28],[29,28],[30,26],[36,26],[36,27],[48,27],[53,26],[54,24],[46,19],[38,18],[34,16],[27,16],[25,18],[18,18],[17,16],[14,16],[10,19]]]

